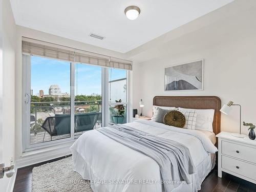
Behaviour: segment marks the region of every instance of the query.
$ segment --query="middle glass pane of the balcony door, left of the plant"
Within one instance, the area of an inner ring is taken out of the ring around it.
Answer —
[[[75,63],[75,136],[102,125],[102,68]]]

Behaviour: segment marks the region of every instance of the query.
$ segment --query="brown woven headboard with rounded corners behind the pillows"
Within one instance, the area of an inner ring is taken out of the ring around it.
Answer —
[[[217,135],[221,131],[221,99],[216,96],[155,96],[153,105],[175,106],[189,109],[214,109],[212,128]]]

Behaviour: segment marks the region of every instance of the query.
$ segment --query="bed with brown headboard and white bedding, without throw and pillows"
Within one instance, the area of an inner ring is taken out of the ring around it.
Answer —
[[[201,183],[215,166],[215,134],[220,132],[221,101],[215,96],[156,96],[153,105],[189,109],[214,109],[213,133],[185,130],[154,121],[136,120],[126,123],[135,130],[185,145],[196,168],[191,183],[180,184],[172,191],[199,190]],[[83,179],[91,180],[94,192],[142,191],[161,192],[159,164],[97,130],[82,134],[71,146],[74,170]]]

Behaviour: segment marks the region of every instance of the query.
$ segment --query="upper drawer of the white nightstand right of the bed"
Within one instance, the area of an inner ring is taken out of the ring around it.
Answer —
[[[222,154],[256,163],[256,148],[222,141]]]

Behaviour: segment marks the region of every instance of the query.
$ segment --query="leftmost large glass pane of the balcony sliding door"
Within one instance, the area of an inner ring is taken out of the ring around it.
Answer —
[[[71,137],[71,62],[26,56],[29,145]]]

